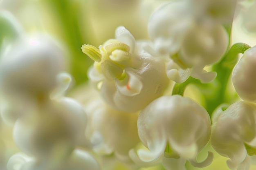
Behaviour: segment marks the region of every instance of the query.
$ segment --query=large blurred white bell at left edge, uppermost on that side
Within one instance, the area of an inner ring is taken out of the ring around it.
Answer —
[[[31,96],[51,92],[63,69],[64,56],[63,49],[48,35],[23,36],[1,56],[2,93]]]

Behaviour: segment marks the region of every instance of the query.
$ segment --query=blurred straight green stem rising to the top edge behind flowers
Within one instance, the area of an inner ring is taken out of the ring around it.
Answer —
[[[51,3],[51,7],[56,11],[64,32],[63,38],[70,49],[71,74],[76,80],[76,85],[81,84],[88,79],[87,70],[93,63],[81,50],[83,44],[88,44],[86,37],[81,36],[80,29],[81,23],[87,22],[86,18],[79,13],[83,11],[82,1],[49,0],[47,2]]]

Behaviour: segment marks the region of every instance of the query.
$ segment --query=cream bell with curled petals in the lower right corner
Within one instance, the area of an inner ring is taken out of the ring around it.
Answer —
[[[256,155],[256,107],[240,101],[214,114],[211,145],[230,158],[230,169],[248,170],[250,156]]]

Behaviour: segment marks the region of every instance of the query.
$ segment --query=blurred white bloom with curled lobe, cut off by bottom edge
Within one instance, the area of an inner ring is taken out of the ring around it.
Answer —
[[[88,152],[75,149],[71,155],[58,163],[43,163],[23,153],[13,155],[7,170],[100,170],[97,161]]]

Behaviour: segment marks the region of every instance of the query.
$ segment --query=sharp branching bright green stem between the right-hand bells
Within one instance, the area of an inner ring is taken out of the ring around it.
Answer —
[[[227,54],[222,60],[213,65],[213,71],[217,72],[217,77],[212,82],[203,84],[200,80],[193,77],[189,77],[184,83],[175,84],[173,87],[172,95],[184,95],[184,91],[187,85],[195,84],[200,88],[201,93],[205,99],[205,109],[211,116],[213,110],[222,103],[230,103],[231,97],[227,94],[227,84],[230,79],[230,75],[234,66],[238,60],[238,54],[244,53],[250,46],[244,43],[237,43],[231,46]]]

